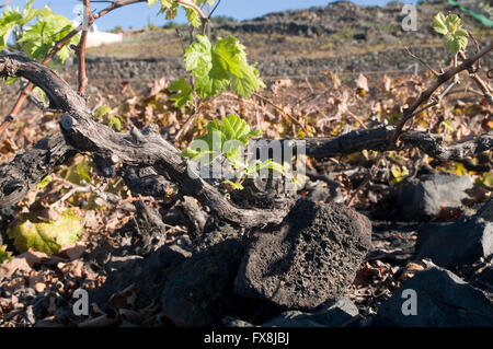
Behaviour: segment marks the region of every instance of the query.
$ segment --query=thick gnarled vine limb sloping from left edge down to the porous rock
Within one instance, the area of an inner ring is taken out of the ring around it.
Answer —
[[[45,91],[54,107],[67,113],[61,118],[60,127],[69,146],[112,159],[115,163],[153,166],[158,173],[168,174],[177,183],[182,193],[197,198],[223,221],[245,228],[277,224],[289,209],[279,212],[233,206],[214,186],[194,174],[177,149],[161,138],[153,127],[142,132],[134,129],[128,133],[118,133],[94,121],[85,101],[56,72],[43,65],[19,55],[7,55],[0,57],[0,77],[5,75],[30,80]],[[9,190],[2,194],[9,196]]]

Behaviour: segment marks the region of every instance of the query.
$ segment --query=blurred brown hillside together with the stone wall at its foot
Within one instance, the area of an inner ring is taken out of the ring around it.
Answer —
[[[213,36],[233,35],[245,45],[252,61],[259,62],[262,78],[272,81],[290,78],[317,81],[324,71],[337,72],[343,79],[360,72],[369,75],[425,72],[425,67],[404,49],[433,67],[448,65],[448,54],[439,35],[433,32],[433,16],[438,12],[460,13],[445,1],[417,5],[416,31],[402,30],[402,4],[362,7],[347,1],[326,7],[284,11],[262,18],[213,24]],[[461,14],[467,27],[486,44],[493,30]],[[181,28],[187,39],[185,28]],[[111,80],[117,88],[130,82],[141,90],[149,81],[183,77],[183,48],[175,30],[134,30],[118,45],[89,50],[88,72],[93,85],[107,89]],[[472,47],[471,47],[472,49]],[[486,57],[484,67],[491,66]],[[68,66],[66,71],[72,71]]]

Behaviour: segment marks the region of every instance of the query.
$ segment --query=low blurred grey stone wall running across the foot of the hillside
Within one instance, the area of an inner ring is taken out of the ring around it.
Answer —
[[[411,51],[434,67],[445,67],[450,55],[440,47],[414,47]],[[483,67],[492,67],[492,55],[483,59]],[[259,62],[259,70],[265,80],[277,78],[314,79],[323,77],[323,71],[336,71],[342,75],[402,74],[413,73],[416,60],[405,49],[390,49],[355,56],[334,58],[296,58],[284,57],[264,59]],[[164,59],[115,59],[89,58],[87,60],[90,81],[118,83],[129,81],[134,88],[145,88],[150,81],[165,77],[170,80],[185,75],[182,58]],[[65,72],[73,72],[77,65],[65,67]],[[419,65],[419,71],[425,68]],[[73,75],[73,73],[72,73]]]

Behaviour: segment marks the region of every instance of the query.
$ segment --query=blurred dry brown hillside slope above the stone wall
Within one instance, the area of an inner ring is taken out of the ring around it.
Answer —
[[[282,55],[286,58],[326,58],[364,54],[388,48],[435,46],[439,35],[432,30],[438,12],[460,14],[445,1],[417,5],[417,31],[402,30],[403,4],[363,7],[339,1],[326,7],[283,11],[243,22],[227,22],[213,27],[213,36],[234,35],[248,47],[252,59]],[[461,14],[465,26],[478,37],[492,36],[493,31],[469,15]],[[186,28],[181,31],[186,33]],[[94,57],[168,58],[181,54],[174,30],[134,30],[125,33],[123,44],[93,48]]]

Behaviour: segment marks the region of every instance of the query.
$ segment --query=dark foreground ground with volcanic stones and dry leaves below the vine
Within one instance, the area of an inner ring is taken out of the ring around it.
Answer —
[[[1,325],[493,326],[493,201],[462,203],[468,175],[402,183],[387,221],[316,188],[274,231],[242,234],[188,198],[190,217],[148,208],[110,240],[20,255],[0,267]],[[165,243],[176,220],[188,233]],[[90,316],[72,312],[78,287]]]

